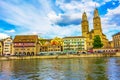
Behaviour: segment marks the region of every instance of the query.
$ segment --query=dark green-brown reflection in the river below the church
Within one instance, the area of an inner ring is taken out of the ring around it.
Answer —
[[[107,69],[107,58],[96,58],[92,61],[89,60],[89,64],[86,68],[86,80],[108,80],[106,69]]]

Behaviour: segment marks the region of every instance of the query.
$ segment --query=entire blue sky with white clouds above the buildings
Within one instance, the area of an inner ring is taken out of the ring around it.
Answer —
[[[120,32],[120,0],[0,0],[0,39],[37,34],[43,38],[81,36],[87,13],[90,30],[97,8],[109,40]]]

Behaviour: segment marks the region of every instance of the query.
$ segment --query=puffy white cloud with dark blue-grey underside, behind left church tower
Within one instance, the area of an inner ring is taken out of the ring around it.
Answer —
[[[64,13],[58,15],[59,18],[55,19],[55,23],[59,26],[69,26],[69,25],[80,25],[81,16],[84,11],[87,12],[88,17],[92,16],[95,4],[97,7],[100,6],[99,3],[89,0],[87,2],[79,0],[71,0],[67,2],[66,0],[57,0],[56,5],[59,5]],[[85,6],[87,5],[87,6]]]

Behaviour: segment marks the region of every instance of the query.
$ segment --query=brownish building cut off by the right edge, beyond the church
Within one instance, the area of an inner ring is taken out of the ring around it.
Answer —
[[[114,48],[120,50],[120,32],[114,34],[112,37],[113,37]]]

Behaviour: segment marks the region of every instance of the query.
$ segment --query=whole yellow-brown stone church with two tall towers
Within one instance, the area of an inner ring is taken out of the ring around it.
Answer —
[[[82,15],[82,36],[87,38],[87,49],[90,49],[93,47],[93,39],[95,35],[99,35],[101,38],[101,41],[103,43],[103,48],[108,47],[108,39],[106,38],[106,35],[102,32],[102,25],[101,25],[101,19],[98,13],[98,9],[96,8],[94,10],[94,18],[93,18],[93,28],[91,31],[89,31],[89,22],[87,19],[86,12]]]

